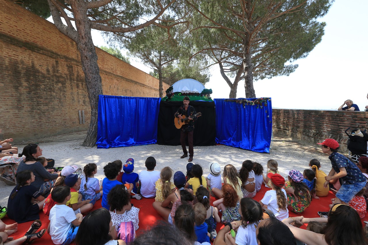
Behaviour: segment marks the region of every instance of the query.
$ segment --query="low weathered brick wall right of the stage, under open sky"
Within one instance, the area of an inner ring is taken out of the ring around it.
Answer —
[[[344,131],[348,127],[368,129],[368,113],[272,109],[272,123],[274,134],[283,134],[311,143],[322,142],[326,138],[346,143],[348,137]]]

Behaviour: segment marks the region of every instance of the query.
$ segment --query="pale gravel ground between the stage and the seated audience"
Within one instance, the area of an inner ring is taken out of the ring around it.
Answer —
[[[81,146],[85,134],[86,132],[82,131],[52,136],[35,139],[32,143],[39,142],[39,146],[43,150],[43,156],[55,159],[55,167],[77,165],[83,169],[87,163],[96,163],[98,166],[96,178],[105,177],[103,166],[108,162],[120,159],[125,163],[130,157],[134,159],[135,173],[146,169],[144,163],[149,156],[155,157],[157,161],[156,170],[170,166],[174,172],[183,171],[183,173],[186,173],[188,158],[180,159],[180,156],[183,155],[180,146],[143,145],[110,149],[89,148]],[[21,152],[26,143],[31,142],[18,142],[18,144],[14,143],[13,145],[17,146],[19,152]],[[322,153],[319,145],[294,141],[284,136],[274,136],[270,154],[251,152],[224,145],[197,146],[194,147],[193,163],[200,164],[204,176],[207,176],[210,161],[217,161],[222,168],[226,164],[233,164],[237,169],[240,169],[243,161],[249,159],[261,163],[266,171],[267,160],[275,159],[279,163],[281,175],[286,177],[285,170],[296,169],[302,172],[305,168],[308,168],[309,160],[313,158],[321,162],[323,171],[329,172],[331,168],[330,161],[328,156]],[[1,206],[7,206],[8,197],[13,188],[14,186],[6,185],[0,181]]]

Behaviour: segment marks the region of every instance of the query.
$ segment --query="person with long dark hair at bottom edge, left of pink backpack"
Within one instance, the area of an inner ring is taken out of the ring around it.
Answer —
[[[126,245],[123,240],[117,240],[110,212],[105,208],[96,209],[84,217],[75,237],[75,244]]]

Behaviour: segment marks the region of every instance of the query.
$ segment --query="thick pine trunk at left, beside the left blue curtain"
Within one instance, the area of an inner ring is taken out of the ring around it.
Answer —
[[[91,123],[87,131],[83,146],[94,146],[97,141],[98,96],[102,95],[102,79],[97,64],[97,54],[93,45],[91,26],[87,18],[87,7],[84,0],[70,0],[74,13],[75,27],[78,32],[77,48],[81,54],[89,103],[91,104]]]

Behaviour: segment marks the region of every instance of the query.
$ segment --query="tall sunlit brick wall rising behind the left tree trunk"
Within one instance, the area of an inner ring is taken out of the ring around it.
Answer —
[[[91,107],[75,42],[11,1],[0,0],[0,16],[0,137],[22,141],[86,130]],[[103,94],[159,96],[158,79],[96,52]],[[85,111],[85,124],[78,110]]]

